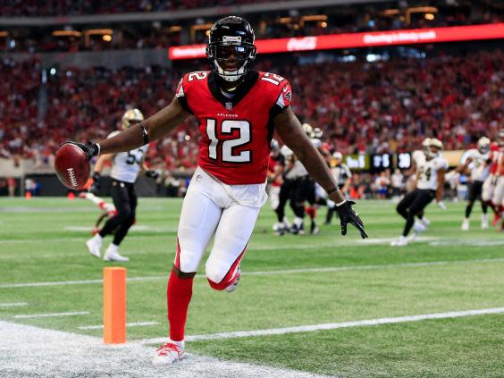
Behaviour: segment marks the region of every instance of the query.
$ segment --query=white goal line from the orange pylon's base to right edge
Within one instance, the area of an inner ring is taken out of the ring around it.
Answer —
[[[422,320],[451,319],[451,318],[463,317],[463,316],[489,315],[489,314],[502,314],[502,313],[504,313],[504,307],[483,308],[483,309],[479,309],[479,310],[450,311],[450,312],[446,312],[446,313],[435,313],[435,314],[409,315],[409,316],[399,316],[399,317],[382,317],[382,318],[378,318],[378,319],[357,320],[357,321],[353,321],[353,322],[299,325],[297,327],[271,328],[271,329],[256,330],[256,331],[219,332],[219,333],[211,333],[211,334],[204,334],[204,335],[187,336],[185,340],[186,341],[198,341],[198,340],[215,340],[215,339],[236,339],[236,338],[242,338],[242,337],[282,335],[285,333],[336,330],[339,328],[364,327],[364,326],[369,326],[369,325],[395,324],[395,323],[406,323],[406,322],[419,322]],[[163,340],[166,340],[166,338],[144,339],[144,340],[136,340],[134,342],[138,342],[139,344],[155,344],[158,342],[164,342]]]

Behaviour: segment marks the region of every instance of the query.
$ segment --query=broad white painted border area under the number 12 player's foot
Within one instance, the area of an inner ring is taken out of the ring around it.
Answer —
[[[159,369],[151,365],[155,355],[152,347],[133,343],[107,345],[98,337],[4,321],[0,321],[0,350],[0,376],[3,377],[323,377],[190,353],[183,363]]]

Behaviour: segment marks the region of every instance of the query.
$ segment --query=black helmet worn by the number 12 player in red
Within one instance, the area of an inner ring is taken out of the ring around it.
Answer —
[[[212,70],[226,81],[238,81],[256,59],[254,30],[241,17],[224,17],[210,29],[206,56]],[[231,69],[230,69],[231,64]]]

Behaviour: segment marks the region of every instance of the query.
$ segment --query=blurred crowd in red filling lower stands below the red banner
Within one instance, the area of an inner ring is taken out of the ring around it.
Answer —
[[[124,108],[136,106],[153,114],[167,105],[182,74],[149,66],[69,69],[47,75],[42,85],[36,60],[4,59],[0,64],[3,156],[27,157],[34,150],[49,154],[65,139],[103,138],[117,126]],[[263,59],[256,68],[288,78],[300,120],[324,130],[332,150],[355,154],[411,151],[425,136],[441,139],[446,149],[491,137],[504,122],[503,66],[504,54],[495,50],[466,57],[305,65],[279,55]],[[41,89],[46,90],[46,105],[38,104]],[[196,125],[186,122],[178,135],[158,143],[149,155],[156,161],[169,159],[169,169],[188,168],[196,163],[196,143]]]

